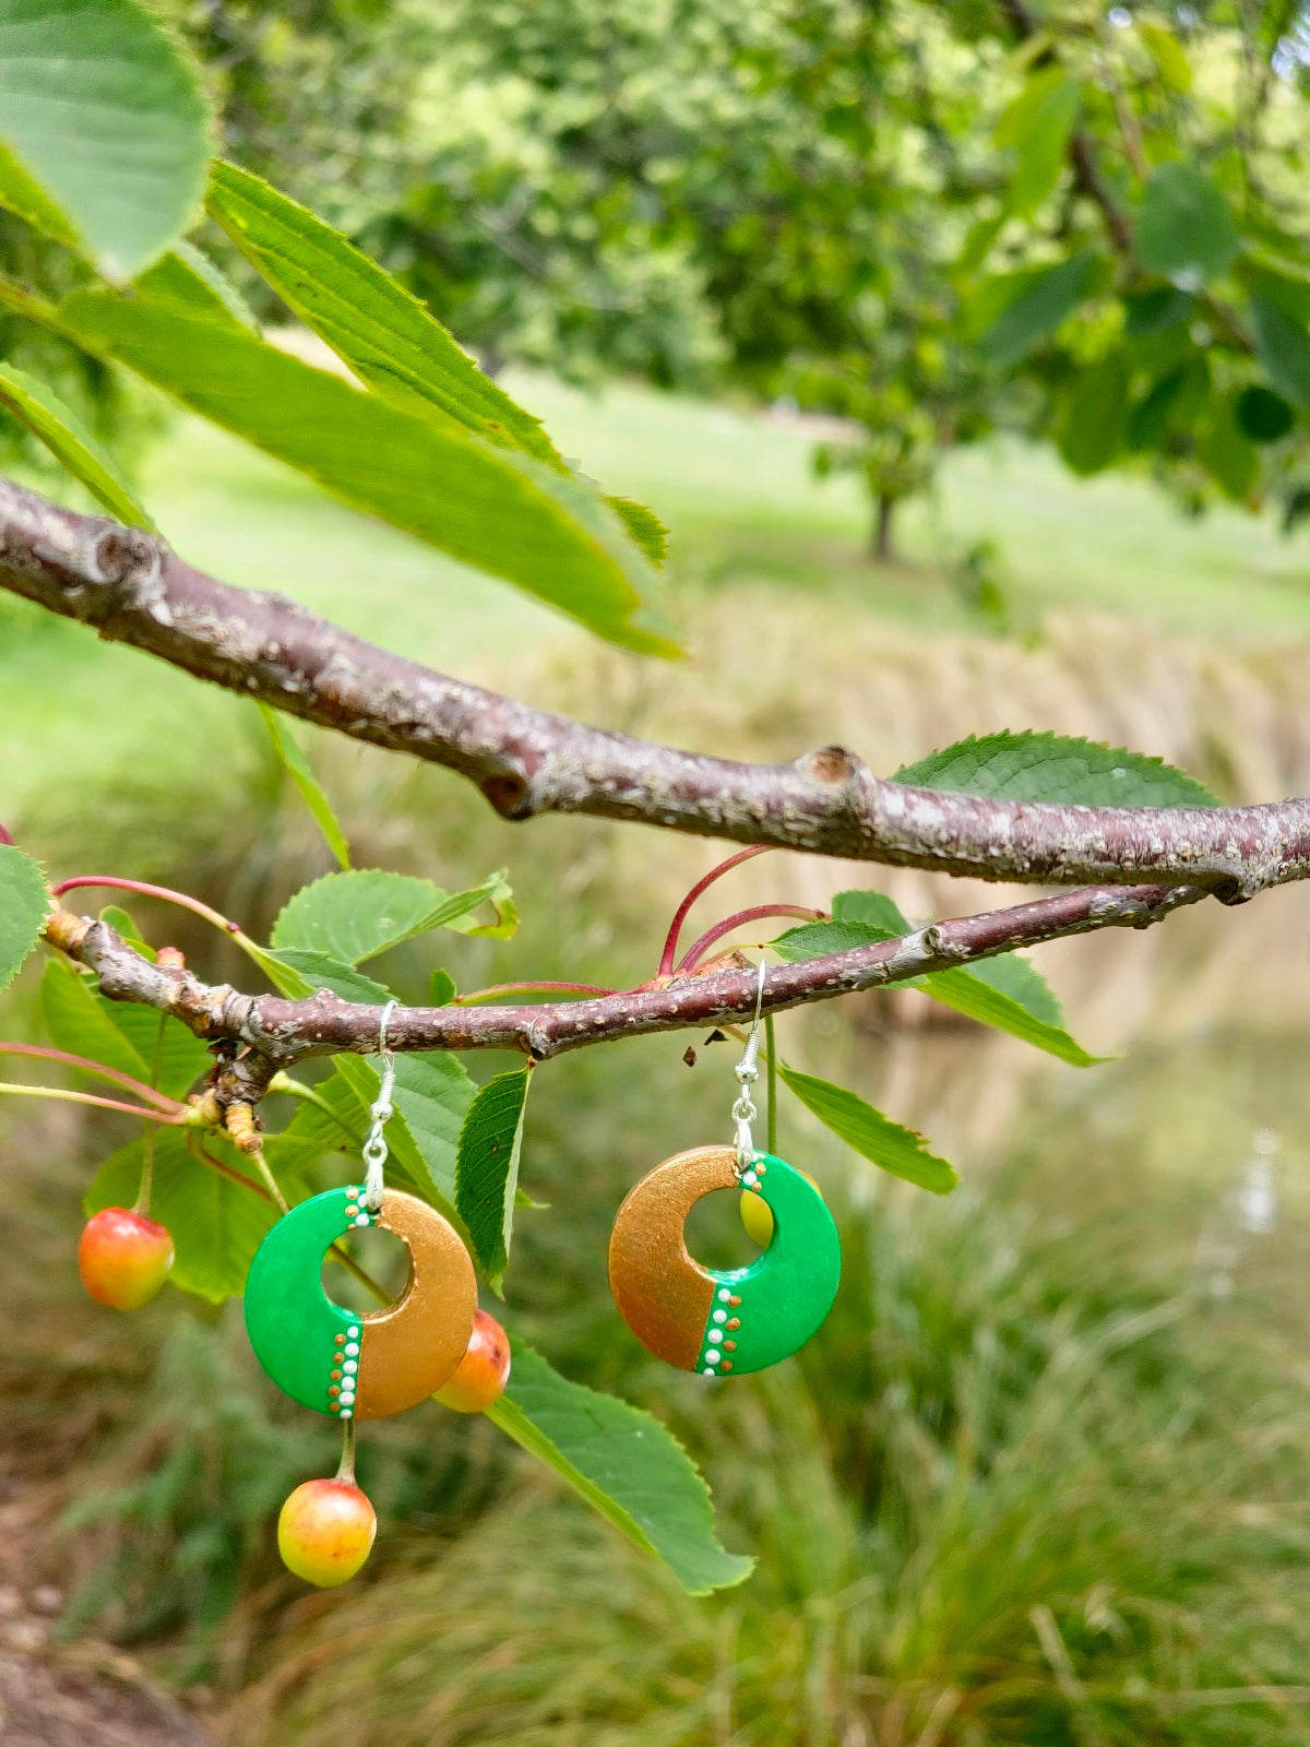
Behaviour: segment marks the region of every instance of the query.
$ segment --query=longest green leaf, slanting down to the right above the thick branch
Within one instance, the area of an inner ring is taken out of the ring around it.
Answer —
[[[650,606],[648,559],[575,477],[166,304],[77,292],[59,320],[89,351],[353,508],[517,583],[622,648],[678,653]]]

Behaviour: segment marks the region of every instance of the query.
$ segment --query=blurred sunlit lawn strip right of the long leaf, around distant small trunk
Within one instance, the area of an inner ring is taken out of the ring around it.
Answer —
[[[1090,608],[1216,636],[1310,629],[1310,542],[1284,540],[1237,510],[1184,521],[1139,479],[1079,482],[1048,454],[962,452],[936,505],[905,514],[905,568],[865,559],[868,508],[851,479],[814,480],[795,423],[655,395],[627,384],[592,400],[557,383],[515,381],[566,454],[669,522],[674,557],[714,580],[776,578],[845,589],[915,624],[964,620],[943,585],[961,552],[996,540],[1020,624]]]

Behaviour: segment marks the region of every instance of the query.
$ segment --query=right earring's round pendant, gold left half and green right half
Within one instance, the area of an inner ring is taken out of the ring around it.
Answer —
[[[610,1289],[650,1350],[706,1377],[762,1371],[803,1347],[837,1296],[842,1251],[823,1197],[783,1158],[756,1153],[741,1186],[774,1214],[769,1249],[744,1268],[702,1268],[683,1225],[713,1190],[737,1188],[732,1146],[697,1146],[629,1193],[610,1235]]]

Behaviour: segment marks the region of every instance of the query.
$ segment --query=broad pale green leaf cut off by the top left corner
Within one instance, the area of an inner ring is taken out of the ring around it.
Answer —
[[[54,234],[129,280],[190,224],[210,119],[190,66],[134,0],[0,0],[0,142],[59,215]]]

